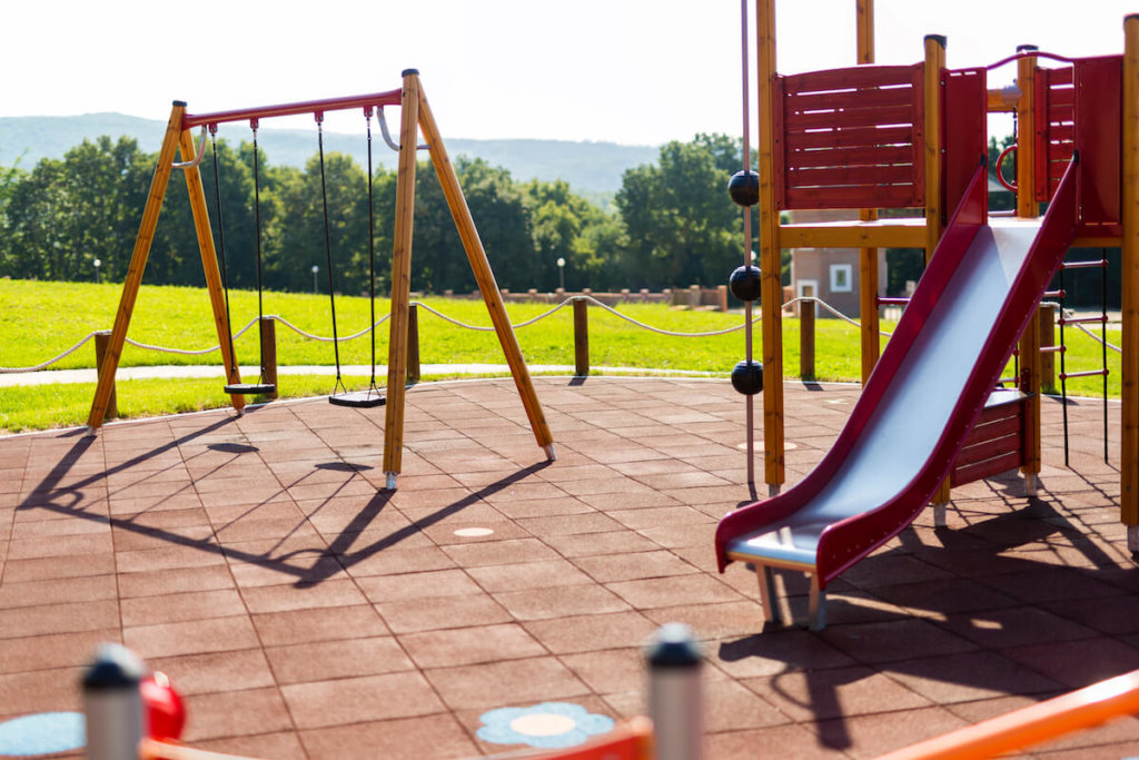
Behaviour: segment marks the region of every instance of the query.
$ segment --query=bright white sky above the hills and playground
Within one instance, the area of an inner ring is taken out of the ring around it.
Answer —
[[[851,65],[854,8],[777,0],[779,70]],[[917,63],[925,34],[949,38],[951,67],[1021,43],[1117,54],[1136,11],[1139,0],[878,0],[877,60]],[[358,95],[415,67],[445,136],[656,145],[740,131],[738,0],[26,0],[0,17],[0,116],[165,120],[174,99],[202,113]]]

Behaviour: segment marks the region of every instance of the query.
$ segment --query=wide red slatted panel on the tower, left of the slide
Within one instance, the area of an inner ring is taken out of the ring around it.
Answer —
[[[777,207],[924,205],[923,67],[776,77]]]

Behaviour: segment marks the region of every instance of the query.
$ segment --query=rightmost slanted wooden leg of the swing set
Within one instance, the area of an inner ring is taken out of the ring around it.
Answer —
[[[418,85],[418,73],[412,70],[409,79],[416,80],[416,92],[419,97],[419,126],[423,130],[424,139],[427,140],[427,149],[431,152],[432,164],[435,166],[435,174],[439,177],[439,182],[443,188],[443,196],[446,198],[446,205],[451,210],[451,216],[454,219],[456,228],[458,228],[459,239],[462,240],[462,248],[467,253],[467,261],[470,262],[470,269],[475,273],[475,281],[478,283],[478,289],[483,295],[483,301],[486,303],[491,322],[494,325],[494,333],[498,335],[499,344],[502,346],[502,353],[506,354],[507,365],[510,366],[510,374],[514,376],[514,384],[518,390],[518,395],[522,397],[522,404],[530,419],[530,427],[534,433],[534,439],[546,451],[547,458],[552,461],[557,458],[554,451],[554,436],[550,434],[549,425],[546,424],[546,416],[542,414],[542,406],[538,400],[538,393],[534,392],[534,384],[530,379],[530,370],[526,368],[526,361],[522,357],[518,338],[514,334],[510,318],[506,313],[502,296],[499,294],[498,284],[494,280],[494,271],[491,269],[490,261],[486,260],[486,251],[483,248],[483,242],[478,238],[478,230],[475,228],[475,221],[470,216],[470,209],[467,207],[467,199],[462,195],[462,188],[459,185],[458,175],[454,173],[454,166],[451,165],[451,158],[446,154],[446,146],[443,145],[443,136],[435,124],[435,116],[427,104],[427,98],[424,96],[423,89]]]

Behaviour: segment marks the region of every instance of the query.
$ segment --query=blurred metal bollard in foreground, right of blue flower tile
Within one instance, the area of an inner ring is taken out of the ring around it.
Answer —
[[[691,629],[683,623],[658,628],[646,660],[656,760],[699,760],[704,742],[703,660]]]

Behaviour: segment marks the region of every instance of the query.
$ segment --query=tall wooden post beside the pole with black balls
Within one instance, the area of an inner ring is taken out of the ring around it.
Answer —
[[[776,209],[775,120],[771,80],[776,74],[776,3],[755,3],[756,93],[760,158],[760,310],[763,341],[763,473],[769,496],[786,480],[782,389],[782,261]]]

